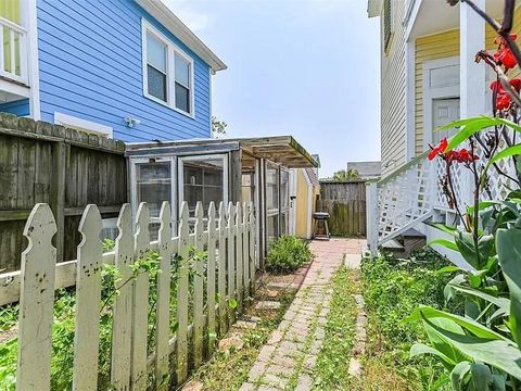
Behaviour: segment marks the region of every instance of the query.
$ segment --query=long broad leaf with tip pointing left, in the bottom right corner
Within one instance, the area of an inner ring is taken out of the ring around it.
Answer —
[[[517,345],[504,340],[462,336],[439,327],[428,318],[423,318],[423,320],[432,329],[449,340],[456,350],[472,357],[474,362],[488,364],[510,374],[517,379],[521,379],[521,352]]]

